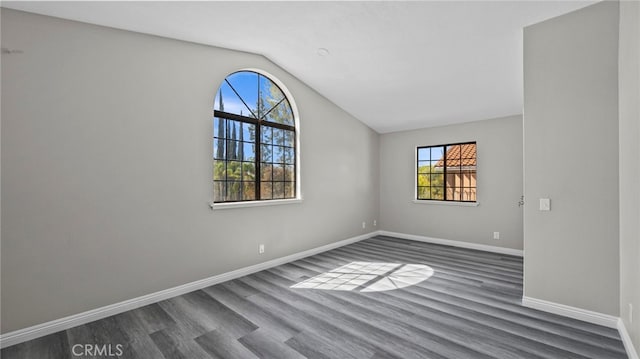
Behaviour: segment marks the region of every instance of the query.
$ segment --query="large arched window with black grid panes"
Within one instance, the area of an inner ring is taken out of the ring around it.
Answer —
[[[296,198],[295,119],[282,89],[257,72],[235,72],[213,113],[214,203]]]

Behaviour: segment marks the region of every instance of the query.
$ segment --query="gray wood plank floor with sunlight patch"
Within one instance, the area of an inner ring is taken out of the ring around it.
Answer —
[[[74,356],[76,344],[154,359],[627,357],[616,330],[524,308],[521,297],[522,258],[378,236],[1,357],[92,357]]]

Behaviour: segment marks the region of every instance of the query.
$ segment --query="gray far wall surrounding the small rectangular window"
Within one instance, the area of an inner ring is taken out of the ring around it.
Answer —
[[[477,141],[478,207],[416,204],[417,146]],[[380,228],[522,249],[522,117],[380,136]],[[500,232],[500,240],[493,232]]]

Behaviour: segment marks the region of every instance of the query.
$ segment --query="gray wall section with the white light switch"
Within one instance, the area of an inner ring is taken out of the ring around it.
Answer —
[[[524,294],[614,316],[617,78],[617,2],[525,28]]]

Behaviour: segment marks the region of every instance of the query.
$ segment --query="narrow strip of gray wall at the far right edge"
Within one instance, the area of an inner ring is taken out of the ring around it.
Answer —
[[[620,317],[640,353],[640,2],[620,2]],[[633,323],[629,320],[633,305]]]

